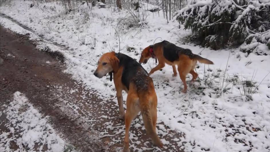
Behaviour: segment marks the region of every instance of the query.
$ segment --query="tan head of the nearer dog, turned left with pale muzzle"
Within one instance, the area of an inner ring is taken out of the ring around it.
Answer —
[[[98,67],[94,75],[102,78],[109,72],[117,72],[119,68],[119,59],[115,56],[115,52],[108,52],[103,54],[98,60]]]

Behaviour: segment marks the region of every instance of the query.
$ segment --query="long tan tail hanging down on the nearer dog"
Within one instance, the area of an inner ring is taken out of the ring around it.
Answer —
[[[145,125],[146,132],[148,135],[150,135],[152,139],[152,143],[162,148],[163,144],[161,143],[159,137],[157,136],[157,133],[152,123],[152,116],[150,112],[149,101],[143,101],[143,100],[147,100],[145,96],[140,98],[140,101],[141,101],[140,105],[141,105],[141,114],[143,116],[143,123]]]

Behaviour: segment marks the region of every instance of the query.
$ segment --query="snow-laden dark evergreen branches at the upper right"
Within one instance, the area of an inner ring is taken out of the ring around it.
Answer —
[[[268,0],[194,0],[175,15],[203,46],[214,50],[254,43],[247,40],[251,34],[266,46],[269,36],[259,34],[270,29],[269,5]]]

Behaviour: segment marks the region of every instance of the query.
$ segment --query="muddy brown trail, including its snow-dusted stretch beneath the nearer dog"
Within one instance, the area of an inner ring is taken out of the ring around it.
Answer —
[[[65,64],[59,54],[39,51],[27,35],[18,35],[1,27],[0,31],[0,99],[1,109],[9,104],[13,93],[22,92],[44,116],[57,133],[78,151],[120,151],[125,125],[119,119],[118,105],[101,100],[94,90],[63,72]],[[9,121],[1,115],[0,132],[7,131]],[[175,139],[181,136],[167,127],[159,128],[161,139],[168,142],[164,149],[151,144],[141,121],[133,121],[130,130],[131,151],[180,151]],[[163,125],[162,125],[163,126]],[[16,143],[11,144],[16,150]],[[44,149],[45,151],[46,149]]]

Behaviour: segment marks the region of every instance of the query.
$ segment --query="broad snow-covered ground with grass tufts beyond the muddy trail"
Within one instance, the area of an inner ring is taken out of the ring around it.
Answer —
[[[61,52],[66,58],[65,72],[82,81],[86,88],[94,89],[104,100],[110,98],[117,103],[114,84],[109,76],[98,79],[93,72],[101,54],[119,51],[119,39],[120,52],[136,60],[143,48],[154,41],[167,40],[213,61],[214,65],[210,66],[198,63],[199,78],[188,85],[186,94],[181,92],[183,85],[179,76],[172,77],[171,66],[151,75],[158,96],[159,136],[162,138],[164,133],[164,126],[160,124],[163,122],[184,134],[175,139],[179,149],[184,151],[270,151],[269,56],[247,55],[239,49],[214,51],[183,44],[179,40],[190,32],[182,25],[179,29],[176,21],[167,23],[162,11],[152,13],[142,9],[140,11],[147,15],[145,21],[139,22],[143,28],[126,29],[118,24],[119,19],[128,15],[125,10],[91,9],[86,3],[79,3],[74,11],[67,12],[57,3],[34,3],[30,7],[31,3],[11,1],[0,9],[31,31],[4,17],[0,18],[1,25],[18,33],[30,33],[31,39],[42,40],[37,45],[41,50]],[[143,67],[149,72],[155,65],[151,59]],[[252,90],[252,100],[247,100],[244,88]],[[125,99],[127,94],[124,94]]]

